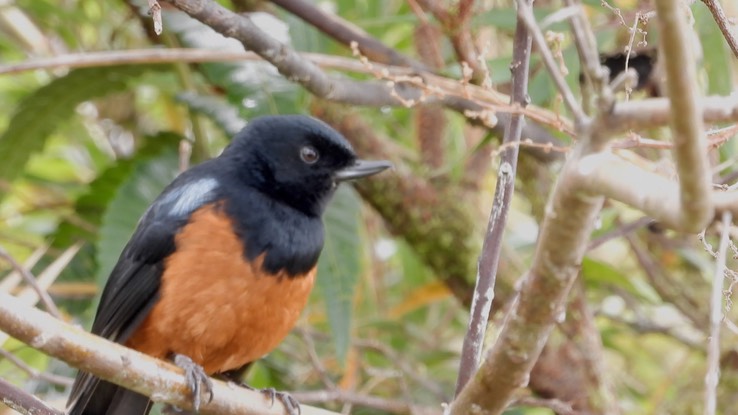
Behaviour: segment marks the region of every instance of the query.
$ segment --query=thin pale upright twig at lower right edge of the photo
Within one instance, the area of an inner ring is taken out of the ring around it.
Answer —
[[[717,409],[717,387],[720,381],[720,328],[723,320],[723,285],[727,260],[730,225],[733,215],[723,212],[720,246],[715,259],[710,295],[710,340],[707,345],[707,374],[705,375],[705,415],[715,415]]]

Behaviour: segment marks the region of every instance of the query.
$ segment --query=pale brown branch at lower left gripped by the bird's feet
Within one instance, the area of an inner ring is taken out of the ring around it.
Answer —
[[[89,334],[47,313],[0,293],[0,329],[49,356],[135,392],[152,396],[183,409],[192,399],[182,369],[162,360]],[[284,414],[282,405],[272,406],[258,391],[213,380],[214,398],[201,407],[203,414]],[[304,415],[333,412],[302,406]]]

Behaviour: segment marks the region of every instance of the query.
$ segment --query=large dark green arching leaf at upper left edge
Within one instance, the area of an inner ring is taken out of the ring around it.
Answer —
[[[13,181],[31,155],[70,118],[81,102],[128,87],[128,81],[151,66],[130,65],[82,68],[69,72],[26,97],[0,135],[0,181]]]

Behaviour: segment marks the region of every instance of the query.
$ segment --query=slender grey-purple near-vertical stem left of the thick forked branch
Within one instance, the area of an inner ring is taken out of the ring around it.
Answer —
[[[522,0],[519,9],[529,8],[530,3]],[[528,103],[528,71],[530,69],[531,34],[530,28],[522,24],[523,17],[518,18],[513,41],[513,60],[510,64],[512,70],[512,96],[511,103],[525,107]],[[521,114],[515,114],[510,118],[510,123],[505,129],[504,145],[517,144],[520,142],[520,134],[523,131],[525,120]],[[492,210],[489,215],[487,233],[485,234],[482,252],[479,256],[477,266],[476,286],[474,287],[474,298],[472,299],[469,312],[469,325],[464,345],[461,351],[461,365],[459,377],[456,381],[456,394],[458,395],[479,366],[482,356],[484,335],[487,329],[492,300],[494,299],[495,281],[497,280],[497,267],[502,252],[502,235],[507,223],[507,214],[510,210],[510,202],[515,191],[515,177],[518,165],[518,145],[512,145],[503,153],[500,167],[497,173],[497,185]]]

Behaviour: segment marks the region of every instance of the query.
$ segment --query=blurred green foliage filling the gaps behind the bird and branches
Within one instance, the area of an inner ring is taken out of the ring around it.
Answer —
[[[235,9],[250,2],[220,3]],[[478,3],[470,27],[486,51],[493,83],[506,91],[515,8],[510,1]],[[640,3],[610,2],[620,8],[629,25],[636,12],[648,10]],[[618,15],[599,1],[585,4],[600,50],[622,52],[630,33]],[[409,2],[328,0],[319,5],[399,52],[417,56],[414,30],[419,19]],[[537,1],[536,5],[539,21],[561,7],[560,2]],[[265,30],[284,36],[282,40],[297,50],[351,56],[350,50],[299,17],[268,3],[261,6],[276,17],[262,23],[268,25]],[[736,59],[704,5],[695,2],[691,9],[701,42],[704,90],[728,94],[735,90],[738,77]],[[26,20],[8,20],[11,11]],[[165,34],[153,36],[144,1],[16,0],[0,6],[0,17],[0,66],[66,52],[240,48],[179,12],[165,12]],[[655,23],[641,28],[648,33],[638,33],[636,42],[645,40],[647,45],[639,47],[654,47]],[[578,92],[579,63],[567,25],[558,22],[546,29],[563,36],[557,49],[560,64],[568,70],[567,82]],[[445,65],[440,72],[458,77],[460,67],[447,40],[440,43],[440,53]],[[535,55],[531,67],[532,102],[563,111]],[[632,99],[643,96],[637,93]],[[34,267],[38,272],[62,250],[84,241],[84,248],[50,292],[70,320],[87,327],[94,292],[104,283],[145,207],[189,162],[188,149],[192,161],[200,161],[218,154],[249,119],[307,113],[311,102],[310,94],[263,62],[52,68],[0,75],[0,246],[23,261],[39,246],[49,244],[47,257]],[[392,148],[408,168],[433,183],[447,180],[458,185],[469,160],[477,152],[489,151],[486,141],[480,144],[481,138],[468,139],[473,134],[463,117],[445,113],[447,124],[440,137],[445,165],[434,170],[420,161],[416,109],[356,111],[378,135],[392,137]],[[723,173],[734,171],[736,149],[736,142],[729,141],[715,153],[717,162],[727,163]],[[639,154],[666,162],[667,155],[658,151],[643,149]],[[553,166],[538,168],[549,181],[555,177]],[[491,206],[495,169],[488,166],[485,171],[490,173],[478,178],[482,190],[472,188],[469,192],[474,194],[459,200],[478,218],[475,232],[480,238]],[[533,200],[541,197],[535,190],[536,179],[521,176],[518,186],[500,269],[501,278],[511,285],[529,265],[540,219],[531,212],[531,205],[540,204]],[[695,298],[700,291],[692,287],[706,284],[712,270],[710,256],[692,236],[639,229],[632,233],[637,243],[619,237],[623,224],[638,218],[637,212],[608,205],[594,237],[615,237],[590,251],[582,269],[588,304],[606,349],[607,377],[624,413],[700,413],[706,327],[696,324],[700,320],[691,313],[698,315],[708,300],[697,296],[694,301],[702,302],[701,307],[691,300],[675,304],[680,298]],[[255,365],[249,381],[254,386],[301,391],[334,384],[429,407],[448,401],[467,324],[466,308],[440,282],[444,276],[432,271],[402,235],[389,234],[382,219],[364,207],[352,189],[338,193],[325,219],[327,241],[318,289],[296,333]],[[0,267],[10,271],[5,263]],[[659,275],[670,291],[658,284]],[[490,341],[501,318],[501,314],[495,317]],[[732,403],[738,401],[738,365],[730,359],[736,353],[736,333],[724,333],[720,398],[727,414],[732,412],[726,408],[735,408]],[[2,347],[36,370],[73,375],[69,368],[17,342],[7,341]],[[319,365],[311,360],[311,347]],[[64,387],[50,387],[2,358],[0,376],[48,400],[63,402]],[[4,413],[1,408],[0,413]],[[385,412],[356,407],[353,413]],[[509,413],[550,411],[515,408]]]

